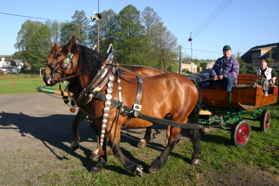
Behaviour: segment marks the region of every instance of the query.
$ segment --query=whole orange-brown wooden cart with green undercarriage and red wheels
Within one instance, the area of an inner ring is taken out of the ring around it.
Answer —
[[[199,123],[203,125],[217,123],[218,127],[228,130],[227,124],[235,122],[231,129],[231,140],[238,147],[245,146],[251,136],[251,126],[245,119],[259,120],[261,130],[267,131],[270,126],[268,106],[277,103],[278,86],[270,86],[268,94],[263,94],[262,77],[262,75],[239,74],[237,85],[233,86],[232,91],[223,91],[220,85],[213,85],[209,90],[201,88],[203,101],[200,114],[205,113],[208,118],[201,116]],[[263,110],[262,107],[266,108]],[[253,118],[241,116],[241,113],[252,109],[256,109]],[[261,115],[258,116],[258,113]]]

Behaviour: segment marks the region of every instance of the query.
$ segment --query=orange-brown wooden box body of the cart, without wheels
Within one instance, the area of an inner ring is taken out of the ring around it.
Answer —
[[[232,91],[223,91],[220,85],[213,85],[210,90],[201,89],[203,94],[202,105],[251,110],[277,102],[278,87],[270,86],[268,96],[262,93],[262,75],[239,74],[237,85]]]

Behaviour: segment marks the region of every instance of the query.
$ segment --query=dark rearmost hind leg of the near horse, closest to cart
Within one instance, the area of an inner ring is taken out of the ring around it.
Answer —
[[[198,129],[189,129],[187,130],[187,132],[191,137],[194,150],[192,154],[191,164],[198,164],[200,162],[200,155],[202,153],[200,131]]]

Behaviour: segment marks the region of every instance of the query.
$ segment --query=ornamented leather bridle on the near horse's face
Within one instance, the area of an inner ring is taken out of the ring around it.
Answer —
[[[58,49],[59,48],[57,48],[57,50]],[[54,55],[56,54],[57,50],[55,51]],[[59,70],[60,66],[62,66],[62,68],[63,68],[62,72]],[[69,69],[70,66],[71,66],[71,69],[73,71],[73,73],[72,73],[73,75],[70,75],[70,76],[66,77],[65,76],[65,71],[67,69]],[[51,70],[50,75],[52,76],[53,81],[55,83],[65,81],[67,79],[70,79],[72,77],[75,77],[75,76],[78,76],[78,75],[82,74],[82,72],[75,73],[75,71],[74,71],[74,67],[73,67],[73,54],[72,53],[69,53],[66,58],[60,60],[56,65],[53,65],[52,61],[50,61],[50,63],[47,65],[47,67]],[[61,78],[57,79],[55,73],[58,73]]]

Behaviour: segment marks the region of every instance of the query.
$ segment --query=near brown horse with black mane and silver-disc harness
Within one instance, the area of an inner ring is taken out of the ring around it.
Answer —
[[[114,54],[109,56],[108,59],[111,59],[112,56],[114,56]],[[69,63],[69,61],[71,63]],[[131,82],[127,79],[125,80],[123,76],[121,79],[119,78],[120,74],[116,76],[116,74],[118,74],[117,72],[114,75],[110,75],[109,83],[100,87],[98,91],[95,91],[96,87],[91,89],[92,82],[98,77],[97,74],[99,74],[99,71],[104,67],[102,62],[104,62],[104,59],[100,54],[86,46],[77,45],[73,37],[67,45],[57,49],[56,56],[53,58],[51,64],[48,64],[52,69],[56,68],[64,74],[70,75],[74,72],[82,72],[82,74],[78,76],[78,79],[81,87],[85,90],[83,95],[86,95],[86,97],[79,97],[79,100],[83,98],[89,100],[85,105],[86,112],[96,124],[101,145],[99,151],[100,157],[96,165],[91,169],[91,172],[98,172],[106,165],[106,146],[108,138],[112,143],[112,150],[115,156],[123,166],[133,174],[142,176],[142,167],[137,163],[127,160],[119,147],[122,125],[125,124],[128,127],[150,127],[157,121],[152,119],[141,119],[135,115],[136,111],[140,111],[139,116],[148,115],[152,118],[163,118],[169,115],[172,121],[181,124],[179,127],[176,127],[177,125],[173,125],[174,122],[169,121],[169,125],[172,126],[170,128],[170,137],[167,146],[162,154],[151,164],[149,168],[150,173],[159,173],[160,168],[166,163],[171,150],[180,140],[181,128],[193,128],[191,135],[193,143],[191,163],[198,163],[202,151],[198,129],[201,129],[202,126],[187,124],[189,122],[197,123],[198,120],[201,94],[195,84],[188,78],[177,73],[163,73],[149,78],[143,77],[142,94],[139,105],[135,104],[135,101],[136,98],[138,98],[137,92],[140,83],[138,83],[138,81]],[[64,65],[64,63],[68,63],[68,66]],[[114,72],[113,69],[108,73]],[[45,82],[47,82],[49,78],[50,75],[46,74],[44,77]],[[114,79],[117,79],[117,81]],[[128,79],[135,80],[137,78],[130,77]],[[112,86],[114,83],[118,83],[118,86]],[[102,93],[106,93],[106,95]],[[91,94],[94,95],[92,99],[87,96]],[[106,97],[105,99],[102,98],[104,96]],[[80,103],[82,104],[84,102]],[[115,103],[119,103],[119,105]],[[123,103],[124,106],[121,105],[121,103]],[[105,107],[105,105],[107,106]],[[137,107],[131,109],[130,112],[121,112],[123,107],[125,109],[133,108],[133,105]],[[139,109],[140,107],[141,110]],[[131,113],[134,113],[134,116],[131,116]]]

